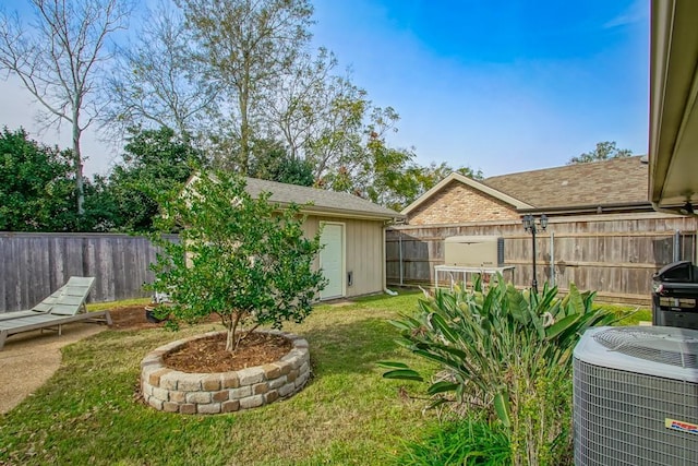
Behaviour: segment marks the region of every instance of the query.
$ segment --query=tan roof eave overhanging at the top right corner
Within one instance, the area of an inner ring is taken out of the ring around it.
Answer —
[[[698,201],[698,2],[652,2],[649,199],[677,212]]]

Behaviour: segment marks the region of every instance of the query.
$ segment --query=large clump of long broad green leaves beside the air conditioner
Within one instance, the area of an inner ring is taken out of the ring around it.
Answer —
[[[416,315],[393,324],[400,343],[441,371],[428,393],[433,406],[484,411],[507,432],[515,465],[562,464],[569,453],[571,354],[592,325],[610,324],[612,311],[592,307],[594,294],[545,286],[540,295],[517,290],[500,275],[483,290],[437,289]],[[424,380],[401,362],[383,362],[388,379]]]

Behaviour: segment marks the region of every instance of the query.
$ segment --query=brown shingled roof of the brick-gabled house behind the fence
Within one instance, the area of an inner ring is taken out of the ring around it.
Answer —
[[[539,208],[649,203],[642,156],[490,177],[484,184]]]

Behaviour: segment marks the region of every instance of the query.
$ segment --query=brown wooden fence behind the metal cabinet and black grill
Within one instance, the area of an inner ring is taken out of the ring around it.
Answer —
[[[515,266],[507,278],[530,286],[532,237],[512,220],[388,229],[388,285],[433,285],[434,265],[444,263],[444,238],[459,235],[504,238],[504,263]],[[554,217],[537,235],[539,288],[547,282],[564,291],[574,283],[616,302],[649,304],[652,274],[676,260],[696,260],[695,218],[655,213]]]

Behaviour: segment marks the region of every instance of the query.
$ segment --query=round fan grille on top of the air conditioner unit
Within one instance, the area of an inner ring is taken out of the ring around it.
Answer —
[[[648,361],[698,369],[698,338],[682,328],[618,327],[597,333],[605,348]]]

